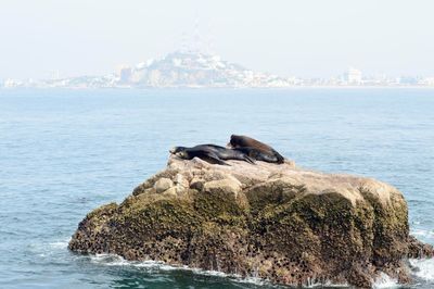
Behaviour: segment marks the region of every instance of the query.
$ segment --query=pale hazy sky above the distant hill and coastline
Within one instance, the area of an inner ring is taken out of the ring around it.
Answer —
[[[434,76],[433,15],[433,0],[0,0],[0,78],[111,73],[179,49],[195,26],[256,71]]]

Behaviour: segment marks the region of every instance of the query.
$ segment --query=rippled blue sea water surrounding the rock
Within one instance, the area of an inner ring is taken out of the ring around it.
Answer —
[[[231,134],[396,186],[412,234],[434,244],[434,89],[0,90],[0,288],[272,287],[66,248],[88,212],[163,169],[171,147]],[[433,288],[434,261],[410,262],[410,287]]]

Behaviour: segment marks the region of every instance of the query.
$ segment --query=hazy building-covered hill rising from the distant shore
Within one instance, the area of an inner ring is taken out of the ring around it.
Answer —
[[[149,60],[118,74],[119,85],[140,87],[279,87],[289,79],[257,73],[217,55],[174,52]]]

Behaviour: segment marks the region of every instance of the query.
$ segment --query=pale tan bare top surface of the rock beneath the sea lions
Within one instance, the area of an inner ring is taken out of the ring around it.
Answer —
[[[256,165],[242,161],[227,162],[230,166],[209,164],[197,158],[187,161],[170,156],[166,169],[177,172],[178,178],[181,174],[189,185],[199,179],[205,181],[235,179],[244,190],[259,184],[281,180],[293,186],[304,186],[307,194],[337,192],[353,204],[363,200],[361,191],[371,192],[383,205],[388,204],[394,196],[403,199],[401,192],[385,183],[348,174],[308,171],[295,166],[292,161],[285,161],[284,164],[279,165],[266,162],[256,162]]]

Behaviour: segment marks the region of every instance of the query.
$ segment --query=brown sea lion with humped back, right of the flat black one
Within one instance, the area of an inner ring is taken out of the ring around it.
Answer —
[[[265,161],[278,164],[284,163],[284,158],[273,148],[246,136],[232,135],[228,146],[233,149],[248,148],[245,149],[245,153],[257,161]]]

